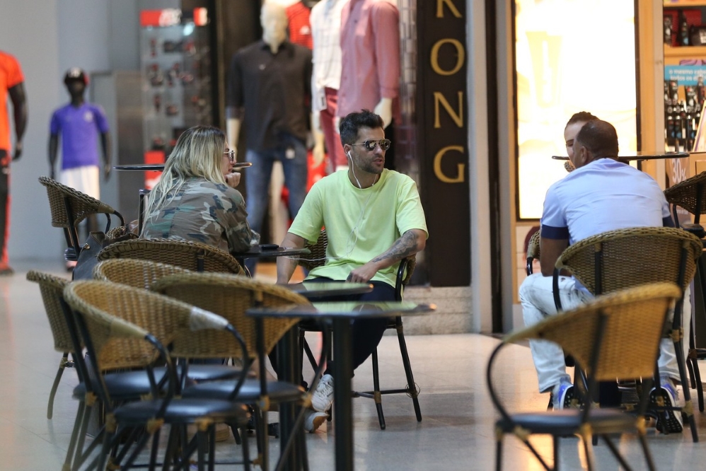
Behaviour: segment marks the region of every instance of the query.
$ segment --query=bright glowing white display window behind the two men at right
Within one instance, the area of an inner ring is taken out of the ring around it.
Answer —
[[[567,120],[589,111],[637,151],[635,2],[515,0],[519,219],[538,219],[545,193],[567,173]]]

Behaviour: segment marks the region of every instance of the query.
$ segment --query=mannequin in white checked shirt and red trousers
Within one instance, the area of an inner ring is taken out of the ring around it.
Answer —
[[[310,18],[313,37],[312,129],[323,132],[331,170],[347,167],[336,118],[341,82],[341,11],[347,1],[321,0],[311,8]]]

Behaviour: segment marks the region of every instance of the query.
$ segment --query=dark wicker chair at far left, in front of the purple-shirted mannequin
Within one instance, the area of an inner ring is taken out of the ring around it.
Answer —
[[[47,188],[47,197],[49,197],[49,205],[52,212],[52,226],[64,229],[67,245],[64,251],[66,260],[79,260],[81,241],[79,240],[76,226],[88,216],[105,214],[108,218],[104,231],[106,233],[110,230],[111,215],[115,215],[120,219],[120,226],[125,226],[125,218],[115,209],[112,209],[110,205],[89,197],[88,194],[62,185],[49,177],[40,177],[39,182]]]

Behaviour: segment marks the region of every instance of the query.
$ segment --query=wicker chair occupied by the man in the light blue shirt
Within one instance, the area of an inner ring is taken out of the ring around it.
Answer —
[[[694,277],[701,251],[701,240],[696,236],[681,229],[666,227],[618,229],[579,240],[562,252],[555,265],[554,295],[557,310],[561,310],[558,296],[560,270],[573,274],[596,296],[655,282],[675,283],[683,294]],[[681,382],[686,385],[681,309],[680,300],[674,309],[670,336],[674,340]],[[689,418],[692,438],[696,442],[698,430],[689,388],[684,388],[684,399],[685,406],[681,410]]]

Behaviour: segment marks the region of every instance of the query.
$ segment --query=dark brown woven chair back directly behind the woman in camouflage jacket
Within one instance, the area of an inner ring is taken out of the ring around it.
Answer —
[[[195,272],[244,274],[243,267],[231,254],[211,245],[187,240],[135,239],[116,242],[98,254],[98,261],[110,258],[151,260]]]

